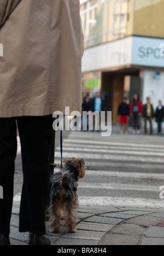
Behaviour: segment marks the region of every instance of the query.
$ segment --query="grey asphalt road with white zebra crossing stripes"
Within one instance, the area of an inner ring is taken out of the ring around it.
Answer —
[[[63,157],[85,159],[86,177],[79,181],[79,201],[83,206],[162,208],[160,187],[164,185],[164,137],[98,132],[65,133]],[[57,133],[55,161],[60,164]],[[20,200],[22,167],[20,144],[16,158],[14,201]],[[55,168],[58,171],[58,167]]]

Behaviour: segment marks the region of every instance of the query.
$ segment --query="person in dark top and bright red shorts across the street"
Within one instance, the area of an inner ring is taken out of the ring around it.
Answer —
[[[130,117],[130,105],[127,104],[127,98],[124,97],[118,108],[120,117],[120,133],[123,133],[123,125],[125,125],[125,133],[127,133],[128,119]]]

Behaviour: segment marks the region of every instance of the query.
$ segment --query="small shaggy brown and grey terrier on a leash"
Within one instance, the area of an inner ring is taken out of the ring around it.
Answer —
[[[84,176],[85,162],[82,158],[64,159],[61,172],[54,174],[49,207],[50,232],[60,232],[62,217],[65,217],[68,232],[77,232],[75,226],[79,208],[78,179],[83,179]]]

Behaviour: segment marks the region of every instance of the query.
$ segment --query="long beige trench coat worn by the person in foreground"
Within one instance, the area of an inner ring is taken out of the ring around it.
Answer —
[[[0,24],[17,2],[0,1]],[[0,43],[0,118],[81,110],[79,0],[22,0]]]

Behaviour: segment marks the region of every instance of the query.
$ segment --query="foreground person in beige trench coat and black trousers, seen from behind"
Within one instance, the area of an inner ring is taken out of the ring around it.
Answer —
[[[24,172],[20,231],[30,232],[30,245],[50,244],[44,213],[52,114],[81,111],[83,39],[79,0],[0,2],[0,245],[10,243],[16,122]]]

